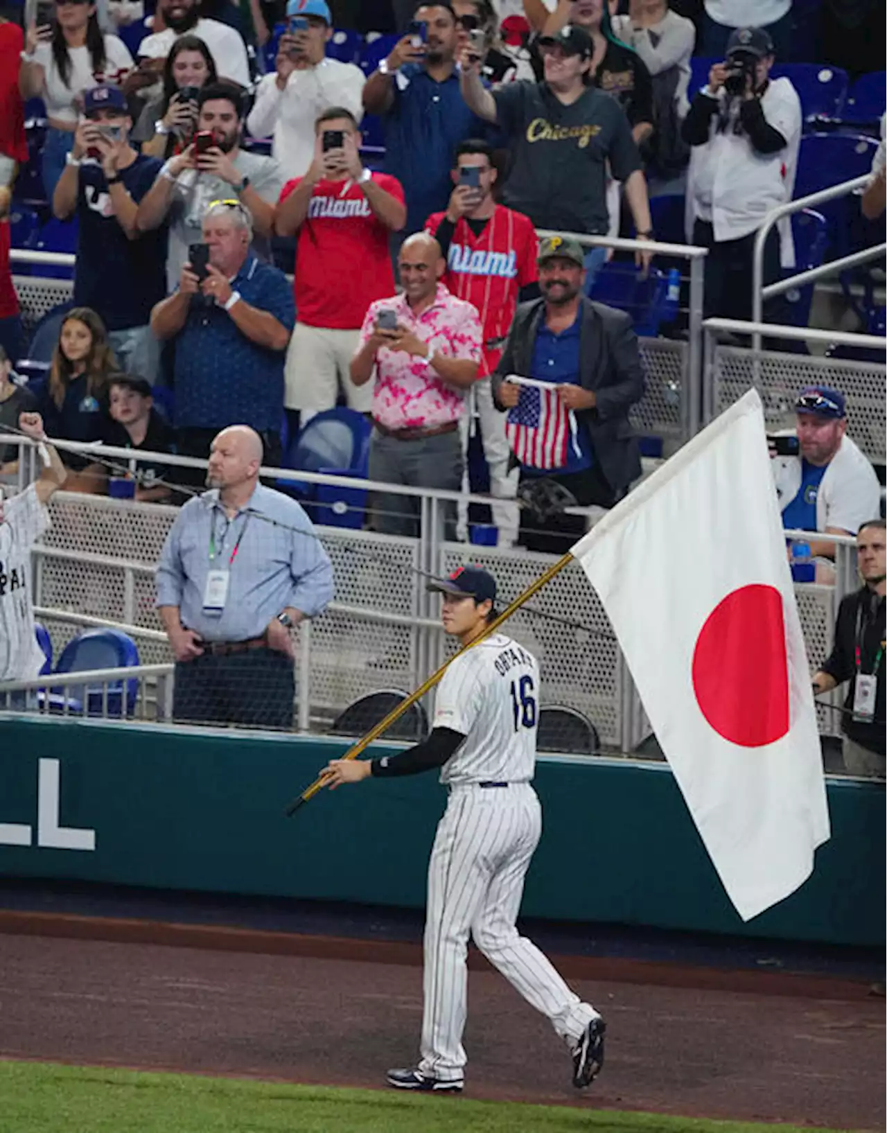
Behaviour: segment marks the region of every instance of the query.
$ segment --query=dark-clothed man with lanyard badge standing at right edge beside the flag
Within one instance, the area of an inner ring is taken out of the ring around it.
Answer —
[[[813,692],[850,681],[844,701],[844,767],[851,775],[887,778],[887,520],[856,535],[865,583],[842,598],[835,645],[813,678]]]

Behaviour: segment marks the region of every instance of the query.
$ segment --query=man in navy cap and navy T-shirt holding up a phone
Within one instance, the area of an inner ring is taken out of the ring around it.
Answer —
[[[151,308],[167,293],[167,225],[136,228],[138,204],[161,169],[129,144],[133,120],[123,92],[95,86],[52,196],[59,220],[79,221],[74,303],[102,316],[120,368],[153,384],[160,343]]]

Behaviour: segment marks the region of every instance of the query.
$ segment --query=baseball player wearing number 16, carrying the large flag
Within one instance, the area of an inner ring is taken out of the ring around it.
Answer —
[[[496,583],[479,566],[461,568],[429,589],[443,595],[444,630],[463,646],[477,640],[494,616]],[[541,834],[539,800],[530,785],[538,695],[536,658],[511,638],[492,634],[446,670],[427,740],[372,761],[333,759],[324,769],[335,789],[370,776],[442,767],[441,782],[450,789],[428,863],[421,1060],[415,1068],[389,1071],[389,1084],[399,1089],[462,1089],[469,932],[566,1041],[573,1085],[588,1085],[604,1064],[604,1020],[514,927]]]

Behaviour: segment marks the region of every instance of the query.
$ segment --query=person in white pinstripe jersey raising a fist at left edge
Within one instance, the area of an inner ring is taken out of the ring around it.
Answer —
[[[65,483],[65,466],[45,443],[40,414],[22,414],[18,427],[40,442],[43,471],[24,492],[3,500],[0,489],[0,681],[28,681],[43,665],[34,636],[31,547],[49,527],[45,504]]]

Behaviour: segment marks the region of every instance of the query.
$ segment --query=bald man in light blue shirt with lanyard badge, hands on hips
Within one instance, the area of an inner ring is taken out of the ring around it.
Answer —
[[[186,503],[163,545],[156,605],[176,658],[180,723],[289,730],[291,631],[333,596],[310,520],[259,484],[262,457],[254,429],[222,429],[210,450],[210,491]]]

